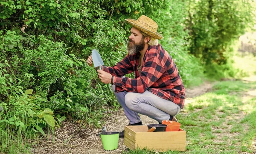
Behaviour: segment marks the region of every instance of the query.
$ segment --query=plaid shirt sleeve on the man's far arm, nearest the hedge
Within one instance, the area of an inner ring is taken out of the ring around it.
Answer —
[[[103,70],[105,72],[110,73],[112,76],[119,76],[119,77],[122,77],[125,74],[132,73],[134,70],[131,62],[131,56],[127,54],[125,58],[122,59],[115,66],[113,67],[103,66]]]

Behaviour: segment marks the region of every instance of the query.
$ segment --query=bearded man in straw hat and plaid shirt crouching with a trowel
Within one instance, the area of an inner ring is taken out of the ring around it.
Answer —
[[[99,79],[112,84],[129,125],[142,125],[138,113],[159,123],[177,121],[174,116],[184,106],[185,87],[172,57],[158,44],[163,36],[157,33],[157,23],[145,15],[125,20],[132,25],[128,54],[113,67],[101,66],[102,70],[97,70]],[[91,56],[87,63],[92,66]],[[124,77],[132,72],[135,78]],[[124,131],[119,137],[124,137]]]

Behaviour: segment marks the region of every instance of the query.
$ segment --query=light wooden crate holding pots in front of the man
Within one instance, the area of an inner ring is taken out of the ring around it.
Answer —
[[[134,150],[148,148],[155,151],[185,151],[186,131],[147,132],[147,126],[125,126],[125,145]]]

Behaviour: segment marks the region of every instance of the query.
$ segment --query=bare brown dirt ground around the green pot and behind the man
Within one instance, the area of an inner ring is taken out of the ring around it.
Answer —
[[[204,83],[200,87],[186,90],[185,103],[191,103],[192,98],[208,92],[212,88],[212,83]],[[181,110],[181,112],[183,112]],[[156,120],[140,115],[143,125],[157,123]],[[102,119],[105,121],[107,132],[120,132],[129,123],[122,109],[113,112],[108,118]],[[101,129],[86,128],[83,129],[77,123],[64,121],[60,128],[56,129],[54,143],[51,141],[40,140],[37,148],[31,148],[35,154],[121,154],[122,151],[128,150],[124,145],[124,139],[120,138],[118,148],[113,151],[105,151],[102,146],[102,141],[99,136],[96,136]],[[49,137],[50,139],[52,136]]]

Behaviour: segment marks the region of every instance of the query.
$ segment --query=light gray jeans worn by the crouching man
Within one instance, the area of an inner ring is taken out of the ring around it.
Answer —
[[[112,85],[112,90],[114,92],[115,85]],[[160,98],[149,91],[143,93],[124,91],[114,94],[131,124],[141,121],[138,113],[162,123],[162,120],[169,120],[171,115],[177,115],[181,109],[174,102]]]

